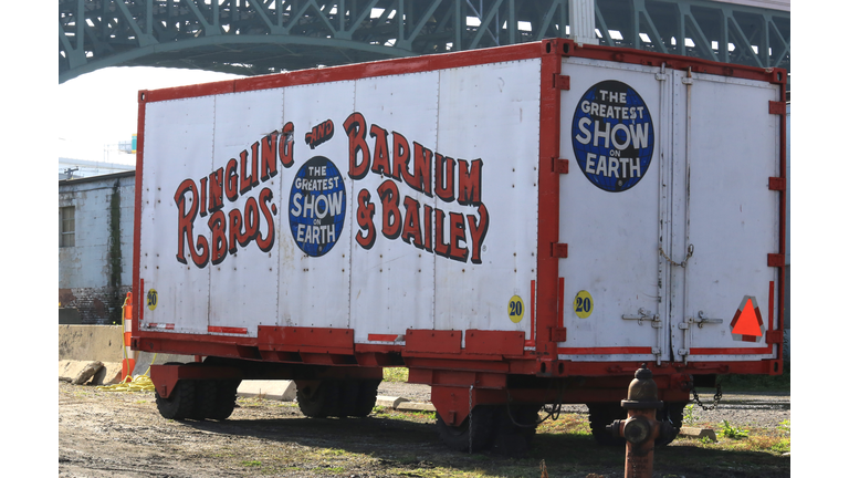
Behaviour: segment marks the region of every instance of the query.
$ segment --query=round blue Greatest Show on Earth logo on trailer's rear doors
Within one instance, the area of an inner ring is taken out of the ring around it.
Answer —
[[[635,187],[654,152],[654,124],[646,102],[622,82],[596,83],[575,108],[572,147],[596,187],[610,193]]]

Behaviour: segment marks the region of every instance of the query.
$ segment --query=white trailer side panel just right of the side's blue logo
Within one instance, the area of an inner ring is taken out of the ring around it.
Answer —
[[[419,174],[418,181],[408,177],[416,177],[417,163],[424,164],[415,157],[417,144],[421,152],[429,152],[424,154],[430,155],[428,169],[432,170],[438,91],[439,74],[434,72],[365,79],[356,83],[355,111],[368,128],[366,144],[371,167],[361,178],[352,181],[353,218],[359,215],[360,195],[369,195],[368,202],[374,206],[370,247],[356,240],[357,236],[365,238],[368,230],[361,229],[356,219],[350,226],[354,235],[350,314],[357,342],[368,341],[369,334],[400,335],[407,329],[433,326],[436,259],[424,245],[430,233],[426,229],[426,208],[434,207],[432,190],[430,195],[426,193],[432,189],[432,179],[426,180],[423,174]],[[396,145],[406,145],[409,155],[406,172],[395,163],[405,154],[402,148],[396,149]],[[381,191],[391,191],[391,196]],[[389,214],[392,210],[397,211],[395,216]],[[405,235],[408,222],[412,226],[418,222],[418,227],[409,229],[415,229],[416,235]]]

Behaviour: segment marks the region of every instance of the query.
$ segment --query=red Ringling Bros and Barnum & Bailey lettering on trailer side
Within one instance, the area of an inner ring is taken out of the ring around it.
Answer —
[[[332,131],[333,125],[324,127]],[[312,129],[307,134],[314,134]],[[356,194],[359,231],[355,239],[363,249],[375,245],[378,228],[374,217],[379,207],[379,229],[385,238],[400,238],[420,250],[460,262],[482,262],[490,216],[481,200],[481,159],[455,160],[417,142],[410,147],[401,133],[389,133],[377,124],[368,127],[360,113],[350,114],[344,129],[348,138],[348,177],[356,181],[371,173],[385,178],[374,200],[367,188]],[[293,133],[293,124],[286,123],[282,132],[270,133],[226,166],[198,180],[187,178],[180,183],[174,195],[177,261],[188,264],[191,260],[198,268],[210,262],[219,264],[251,242],[262,251],[272,250],[277,205],[273,201],[274,191],[260,187],[279,174],[277,163],[286,169],[294,165]],[[421,204],[402,196],[399,186],[403,185],[428,198],[436,196],[442,205],[459,205],[467,214],[436,207],[437,201]],[[226,210],[226,206],[245,196],[243,209]],[[206,231],[196,230],[198,216],[208,217],[207,228],[202,228]]]

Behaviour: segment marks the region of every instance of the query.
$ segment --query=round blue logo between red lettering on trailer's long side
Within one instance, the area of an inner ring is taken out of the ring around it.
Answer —
[[[298,169],[289,195],[289,225],[304,253],[326,254],[345,226],[345,181],[324,156],[314,156]]]

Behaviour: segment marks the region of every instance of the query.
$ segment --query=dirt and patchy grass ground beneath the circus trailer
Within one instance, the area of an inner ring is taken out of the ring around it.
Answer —
[[[789,397],[771,405],[774,398],[734,409],[762,416],[752,418],[762,426],[777,425],[789,419]],[[565,415],[586,419],[579,407]],[[60,382],[59,476],[539,477],[543,466],[551,477],[623,475],[623,453],[600,450],[586,435],[537,434],[531,456],[503,458],[449,451],[433,422],[432,414],[312,419],[292,403],[255,398],[240,398],[224,422],[176,422],[158,414],[153,392]],[[671,446],[656,453],[654,476],[783,477],[789,476],[789,457]]]

